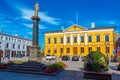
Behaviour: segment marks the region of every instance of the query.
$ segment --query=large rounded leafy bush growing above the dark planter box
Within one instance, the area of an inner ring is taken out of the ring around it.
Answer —
[[[87,71],[108,71],[108,59],[99,51],[90,52],[84,61],[84,69]]]

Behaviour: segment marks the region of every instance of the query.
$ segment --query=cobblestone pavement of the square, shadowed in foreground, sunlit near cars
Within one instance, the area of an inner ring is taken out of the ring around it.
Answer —
[[[81,61],[65,61],[68,67],[55,76],[43,76],[33,74],[21,74],[12,72],[0,72],[0,80],[83,80]],[[113,72],[112,80],[120,80],[120,72],[117,71],[117,63],[110,63],[110,71]]]

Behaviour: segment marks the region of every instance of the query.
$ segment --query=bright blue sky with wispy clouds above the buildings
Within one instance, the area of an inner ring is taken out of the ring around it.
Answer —
[[[116,26],[120,32],[120,0],[0,0],[0,30],[32,40],[34,4],[39,3],[39,44],[44,48],[44,32],[78,24],[90,28]]]

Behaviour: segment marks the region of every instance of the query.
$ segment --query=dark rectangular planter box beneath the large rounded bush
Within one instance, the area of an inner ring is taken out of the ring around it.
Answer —
[[[83,71],[84,79],[112,80],[111,72]]]

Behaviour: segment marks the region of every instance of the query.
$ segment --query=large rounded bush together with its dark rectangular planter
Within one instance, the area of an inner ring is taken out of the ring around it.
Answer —
[[[103,55],[99,51],[90,52],[84,60],[84,78],[111,80],[112,73],[106,72],[109,70],[108,64],[109,61],[107,56]],[[103,77],[104,75],[106,75],[106,77]]]

